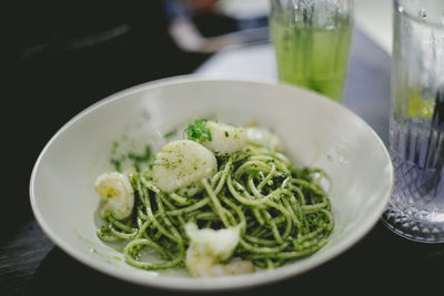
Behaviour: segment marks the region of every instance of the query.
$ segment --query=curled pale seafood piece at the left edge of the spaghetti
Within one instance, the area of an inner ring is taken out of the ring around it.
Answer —
[[[112,215],[123,220],[131,215],[134,207],[134,191],[127,175],[119,172],[104,173],[95,180],[95,192],[105,201],[101,215]]]

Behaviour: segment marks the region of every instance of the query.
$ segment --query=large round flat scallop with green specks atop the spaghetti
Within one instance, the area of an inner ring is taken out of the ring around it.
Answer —
[[[201,188],[200,181],[212,177],[216,171],[218,161],[210,150],[193,141],[178,140],[157,154],[153,180],[163,192],[180,190],[188,195],[190,190],[192,195]]]

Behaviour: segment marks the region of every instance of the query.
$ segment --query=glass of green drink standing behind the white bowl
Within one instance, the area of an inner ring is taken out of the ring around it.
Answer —
[[[279,79],[342,101],[353,31],[352,0],[270,0]]]

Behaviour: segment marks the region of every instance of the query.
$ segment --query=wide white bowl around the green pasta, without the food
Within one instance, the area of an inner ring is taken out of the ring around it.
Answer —
[[[112,169],[110,150],[147,143],[199,118],[244,125],[255,120],[284,140],[296,165],[321,167],[332,178],[335,226],[326,246],[310,257],[250,275],[192,278],[185,273],[148,272],[97,235],[95,177]],[[375,132],[344,106],[293,86],[180,76],[111,95],[69,121],[37,160],[30,181],[32,210],[46,234],[83,264],[132,283],[171,289],[226,289],[295,276],[340,255],[377,222],[392,190],[393,169]]]

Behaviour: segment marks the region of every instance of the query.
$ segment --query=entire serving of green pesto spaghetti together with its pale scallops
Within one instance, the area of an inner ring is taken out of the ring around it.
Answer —
[[[198,120],[145,165],[95,180],[98,236],[143,269],[210,277],[275,268],[323,247],[334,220],[320,169],[295,167],[278,135]],[[154,252],[159,261],[144,261]]]

